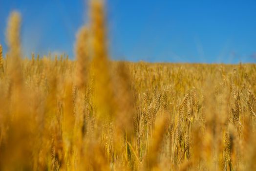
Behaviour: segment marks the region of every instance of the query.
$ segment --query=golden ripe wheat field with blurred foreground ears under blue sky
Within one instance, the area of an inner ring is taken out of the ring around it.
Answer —
[[[109,60],[104,4],[66,55],[0,46],[0,171],[255,171],[256,64]]]

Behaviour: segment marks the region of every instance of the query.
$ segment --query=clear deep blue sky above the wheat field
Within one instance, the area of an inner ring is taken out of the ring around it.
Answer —
[[[12,10],[22,15],[24,55],[65,52],[86,21],[84,0],[1,0],[0,43]],[[256,0],[107,0],[112,59],[256,63]]]

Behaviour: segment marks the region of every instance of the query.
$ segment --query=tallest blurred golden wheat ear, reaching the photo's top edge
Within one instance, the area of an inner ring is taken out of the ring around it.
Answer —
[[[91,55],[94,81],[94,103],[99,117],[113,114],[113,89],[107,55],[105,10],[103,0],[90,0]]]

